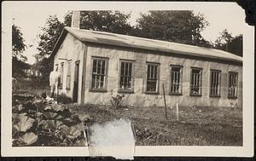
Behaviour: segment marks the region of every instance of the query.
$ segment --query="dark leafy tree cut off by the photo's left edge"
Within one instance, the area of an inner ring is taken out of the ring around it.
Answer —
[[[22,54],[26,49],[22,35],[20,27],[12,25],[12,75],[15,78],[24,76],[24,70],[30,67],[25,62],[26,56]]]

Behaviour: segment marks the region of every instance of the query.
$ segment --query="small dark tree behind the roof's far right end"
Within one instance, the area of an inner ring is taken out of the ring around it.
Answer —
[[[216,39],[214,47],[242,56],[242,35],[234,37],[227,29],[224,29]]]

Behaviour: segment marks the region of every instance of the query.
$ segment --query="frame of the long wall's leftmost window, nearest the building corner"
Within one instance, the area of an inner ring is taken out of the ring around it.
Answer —
[[[93,61],[94,60],[105,60],[105,78],[103,82],[102,89],[92,88],[92,77],[93,77]],[[91,56],[91,66],[90,66],[90,92],[107,92],[108,91],[108,57],[102,56]]]

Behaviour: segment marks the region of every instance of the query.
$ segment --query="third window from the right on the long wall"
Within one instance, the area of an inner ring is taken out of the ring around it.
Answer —
[[[191,68],[190,95],[201,96],[201,68]]]

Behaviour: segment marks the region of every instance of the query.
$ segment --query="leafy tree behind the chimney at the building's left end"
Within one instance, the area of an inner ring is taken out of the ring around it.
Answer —
[[[125,34],[132,28],[127,22],[130,14],[123,14],[119,11],[81,11],[80,15],[81,29]],[[37,62],[34,66],[44,78],[49,78],[49,72],[53,69],[53,60],[49,59],[49,55],[64,26],[71,26],[71,19],[72,13],[65,15],[64,22],[58,20],[56,15],[50,15],[45,26],[42,27],[42,33],[38,35],[38,54],[35,55]]]

